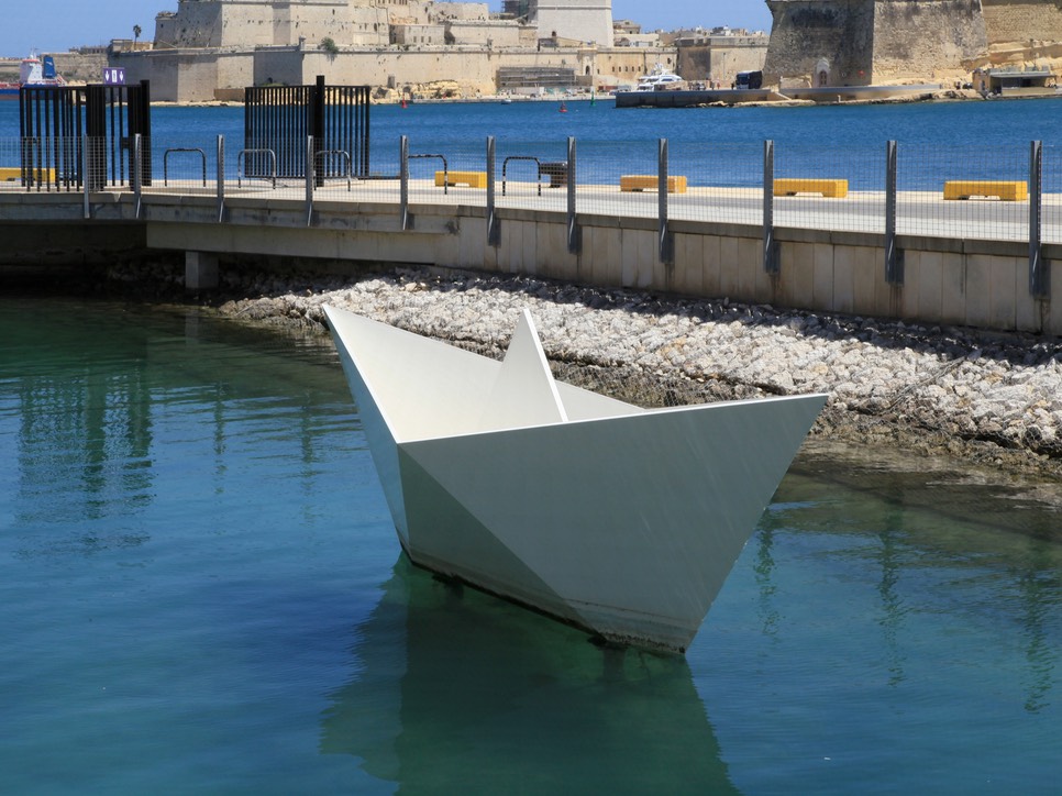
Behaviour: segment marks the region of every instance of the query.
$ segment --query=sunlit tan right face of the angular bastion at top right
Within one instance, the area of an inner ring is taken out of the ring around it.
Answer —
[[[875,84],[969,75],[987,47],[980,0],[875,3]]]

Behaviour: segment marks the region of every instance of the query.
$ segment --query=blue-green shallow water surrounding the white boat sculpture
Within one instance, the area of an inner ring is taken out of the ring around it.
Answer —
[[[327,341],[0,299],[0,789],[1052,793],[1057,494],[817,446],[602,651],[407,565]]]

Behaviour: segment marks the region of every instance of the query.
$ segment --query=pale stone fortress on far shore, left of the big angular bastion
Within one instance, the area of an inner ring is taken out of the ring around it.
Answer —
[[[711,70],[709,36],[685,63],[659,36],[616,46],[611,0],[178,0],[161,13],[150,51],[113,48],[126,80],[156,100],[237,100],[245,86],[312,82],[378,87],[377,96],[607,91],[632,87],[656,64],[690,80]],[[766,36],[726,36],[713,48],[731,73],[763,63]],[[717,69],[718,70],[718,69]],[[720,79],[721,76],[720,76]],[[732,78],[728,78],[732,79]]]

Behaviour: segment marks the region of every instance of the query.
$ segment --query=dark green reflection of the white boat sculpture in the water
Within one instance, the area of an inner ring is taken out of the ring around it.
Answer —
[[[405,555],[356,633],[322,752],[402,793],[737,793],[681,655],[598,646]]]

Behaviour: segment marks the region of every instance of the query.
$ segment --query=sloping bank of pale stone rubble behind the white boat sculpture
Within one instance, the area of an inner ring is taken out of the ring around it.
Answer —
[[[1062,473],[1053,338],[416,269],[264,287],[268,297],[221,312],[323,330],[323,306],[334,305],[499,356],[528,307],[562,378],[632,402],[826,393],[814,435]]]

